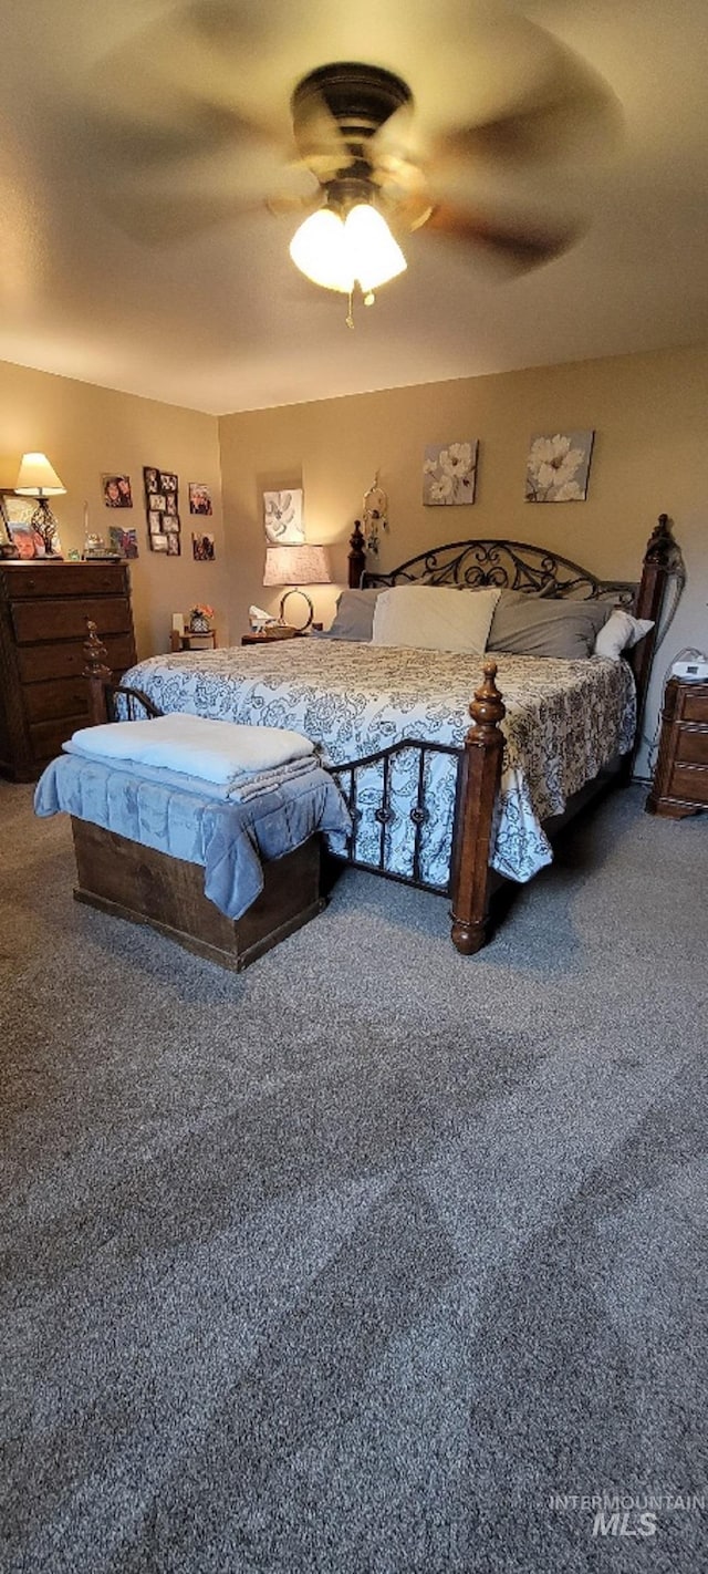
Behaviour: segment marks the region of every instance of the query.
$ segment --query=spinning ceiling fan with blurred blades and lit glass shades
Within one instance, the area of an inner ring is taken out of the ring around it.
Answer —
[[[200,0],[171,17],[159,54],[145,38],[126,46],[110,72],[118,94],[109,104],[101,99],[90,140],[88,156],[104,154],[101,181],[112,214],[123,214],[132,233],[145,236],[146,224],[159,239],[162,225],[175,239],[194,231],[195,211],[200,230],[263,205],[277,216],[297,212],[304,222],[291,257],[312,280],[349,297],[349,323],[356,290],[370,304],[379,285],[403,272],[400,242],[411,231],[458,241],[507,272],[540,266],[582,235],[577,201],[568,211],[557,200],[557,172],[577,151],[599,156],[618,129],[618,104],[590,66],[524,17],[494,17],[485,27],[477,19],[470,27],[461,42],[469,79],[477,69],[492,85],[472,113],[467,101],[459,104],[459,124],[450,124],[448,105],[437,102],[425,47],[407,55],[420,115],[411,87],[389,66],[345,58],[308,69],[289,101],[301,189],[304,175],[310,186],[308,195],[294,197],[269,195],[264,186],[256,195],[258,145],[282,145],[283,123],[272,93],[258,94],[244,72],[238,8]],[[334,30],[332,44],[337,36]],[[280,80],[286,44],[280,36]],[[445,47],[450,57],[450,41]],[[293,49],[294,60],[304,55],[304,44]],[[142,87],[145,61],[149,94]],[[179,115],[167,115],[175,90]],[[293,162],[283,156],[285,168]]]

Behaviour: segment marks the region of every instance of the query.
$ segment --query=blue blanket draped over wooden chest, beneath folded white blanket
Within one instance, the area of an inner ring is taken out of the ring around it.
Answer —
[[[227,918],[241,918],[263,891],[261,859],[282,858],[315,831],[348,833],[345,800],[319,767],[249,803],[206,796],[203,784],[175,789],[127,765],[61,754],[35,792],[35,812],[91,820],[107,831],[205,869],[205,894]],[[170,774],[170,773],[167,773]]]

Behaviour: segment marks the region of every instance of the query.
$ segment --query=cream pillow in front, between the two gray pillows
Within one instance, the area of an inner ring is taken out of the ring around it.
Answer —
[[[500,590],[395,586],[374,606],[373,644],[481,656]]]

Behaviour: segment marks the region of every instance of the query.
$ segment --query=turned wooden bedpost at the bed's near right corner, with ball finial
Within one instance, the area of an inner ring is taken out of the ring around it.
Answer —
[[[502,778],[505,716],[496,685],[497,664],[485,661],[485,682],[469,707],[472,727],[464,740],[453,848],[452,940],[463,955],[480,951],[486,940],[489,900],[489,842]]]

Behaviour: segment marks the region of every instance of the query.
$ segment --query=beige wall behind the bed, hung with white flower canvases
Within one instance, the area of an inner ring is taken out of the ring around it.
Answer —
[[[686,645],[708,650],[706,411],[708,351],[677,349],[222,417],[231,634],[247,626],[250,601],[277,608],[278,593],[261,584],[264,488],[304,486],[307,537],[334,545],[340,586],[348,535],[376,469],[390,505],[382,568],[430,545],[500,535],[555,548],[601,576],[631,579],[658,515],[669,513],[688,587],[655,664],[647,719],[653,732],[670,660]],[[527,504],[529,436],[559,428],[595,428],[588,499]],[[425,445],[464,438],[480,439],[474,508],[423,508]],[[335,597],[337,589],[312,590],[326,622]]]

